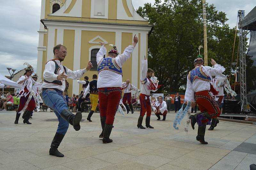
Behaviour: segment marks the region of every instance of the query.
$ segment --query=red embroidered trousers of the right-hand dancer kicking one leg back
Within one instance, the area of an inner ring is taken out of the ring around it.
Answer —
[[[209,94],[208,90],[196,92],[195,99],[200,108],[200,112],[206,111],[211,118],[217,118],[220,116],[220,108],[213,97]],[[208,121],[208,119],[202,120],[203,123],[207,123]]]

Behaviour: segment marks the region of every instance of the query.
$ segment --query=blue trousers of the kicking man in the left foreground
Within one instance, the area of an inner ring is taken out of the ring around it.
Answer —
[[[44,103],[54,110],[59,124],[57,128],[57,133],[65,135],[68,131],[69,123],[64,120],[60,114],[64,109],[68,109],[67,101],[62,97],[62,91],[58,89],[46,89],[42,93]]]

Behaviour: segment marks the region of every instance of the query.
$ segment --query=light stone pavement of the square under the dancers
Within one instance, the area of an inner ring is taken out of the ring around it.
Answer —
[[[154,129],[136,127],[139,112],[124,117],[117,112],[110,138],[102,144],[99,113],[87,122],[83,113],[80,131],[69,127],[59,151],[65,157],[49,155],[57,128],[53,112],[35,112],[31,125],[14,124],[15,112],[0,112],[0,169],[156,169],[156,170],[241,170],[256,163],[256,127],[220,122],[213,131],[206,130],[208,145],[196,141],[197,127],[184,134],[172,127],[175,113],[166,121],[151,116]],[[162,116],[161,116],[162,119]],[[145,125],[145,119],[143,120]],[[209,128],[209,126],[207,126]]]

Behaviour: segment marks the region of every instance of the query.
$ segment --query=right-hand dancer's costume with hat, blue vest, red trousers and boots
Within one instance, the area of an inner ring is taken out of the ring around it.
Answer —
[[[202,58],[196,58],[194,63],[196,61],[204,62]],[[220,115],[220,108],[210,94],[210,91],[213,94],[217,92],[210,82],[212,81],[213,75],[219,75],[224,71],[225,68],[223,66],[215,64],[214,68],[210,66],[196,66],[188,73],[185,101],[196,101],[200,108],[201,112],[191,115],[189,119],[193,129],[195,129],[195,124],[198,124],[196,140],[202,144],[208,144],[204,141],[206,124],[209,124],[212,118],[217,118]]]

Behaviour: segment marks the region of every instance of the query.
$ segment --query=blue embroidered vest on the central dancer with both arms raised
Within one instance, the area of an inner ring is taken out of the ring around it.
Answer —
[[[121,74],[123,76],[123,71],[122,68],[119,67],[116,64],[115,58],[107,57],[107,58],[102,58],[100,63],[98,64],[98,74],[102,70],[109,70],[118,74]]]

